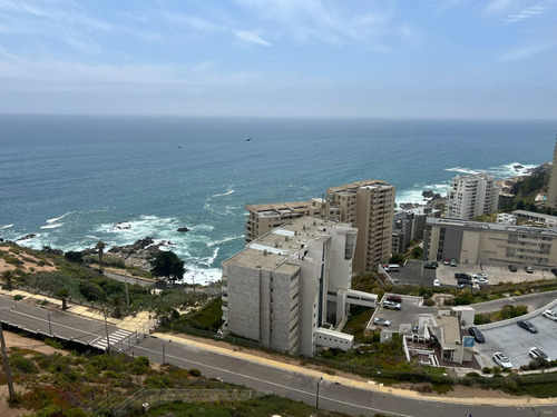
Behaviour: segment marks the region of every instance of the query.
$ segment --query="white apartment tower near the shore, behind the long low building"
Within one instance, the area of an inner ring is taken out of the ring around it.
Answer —
[[[457,176],[451,181],[446,218],[470,220],[497,211],[499,187],[487,173]]]

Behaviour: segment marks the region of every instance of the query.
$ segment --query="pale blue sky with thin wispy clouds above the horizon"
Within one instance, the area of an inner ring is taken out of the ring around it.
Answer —
[[[0,113],[557,119],[557,0],[0,0]]]

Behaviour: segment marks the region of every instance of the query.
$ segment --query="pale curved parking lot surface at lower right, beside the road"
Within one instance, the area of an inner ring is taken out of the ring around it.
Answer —
[[[517,326],[516,320],[508,325],[481,329],[486,338],[485,344],[476,344],[485,366],[492,367],[496,364],[491,359],[496,351],[502,351],[512,364],[514,368],[528,365],[531,358],[528,356],[528,349],[537,347],[546,353],[551,359],[557,358],[557,322],[537,315],[529,321],[538,328],[537,334],[531,334]]]

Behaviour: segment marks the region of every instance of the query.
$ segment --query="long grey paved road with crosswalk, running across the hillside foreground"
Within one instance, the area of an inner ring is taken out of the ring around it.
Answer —
[[[114,326],[106,326],[101,321],[94,321],[76,317],[66,312],[49,312],[46,309],[16,302],[16,309],[9,310],[14,301],[0,297],[0,318],[2,321],[18,324],[32,331],[56,334],[63,338],[79,339],[82,342],[102,347],[106,344],[108,329],[111,344],[126,347],[127,341],[133,341],[135,335],[123,332]],[[49,316],[50,315],[50,322]],[[129,338],[131,337],[131,338]],[[463,416],[471,414],[473,417],[521,417],[531,413],[530,407],[522,404],[511,406],[478,406],[467,404],[439,403],[431,399],[395,396],[385,390],[370,389],[364,384],[352,383],[336,384],[336,379],[329,375],[312,374],[305,368],[293,368],[289,365],[262,364],[253,358],[237,357],[241,353],[219,354],[211,351],[203,346],[189,346],[178,342],[168,342],[160,338],[147,337],[131,345],[128,353],[147,356],[156,363],[165,361],[190,369],[197,368],[203,375],[221,378],[224,381],[251,387],[261,391],[274,393],[283,397],[302,400],[310,405],[316,403],[317,381],[320,384],[320,407],[334,409],[353,416],[372,416],[383,413],[397,417],[417,416]],[[540,407],[543,416],[556,417],[557,405]]]

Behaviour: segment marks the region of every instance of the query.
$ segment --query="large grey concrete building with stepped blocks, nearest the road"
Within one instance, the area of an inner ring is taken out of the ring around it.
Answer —
[[[350,304],[377,305],[350,289],[356,237],[348,224],[304,216],[250,242],[223,262],[225,330],[291,355],[352,347],[334,328]]]

